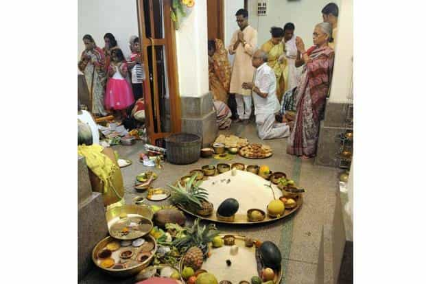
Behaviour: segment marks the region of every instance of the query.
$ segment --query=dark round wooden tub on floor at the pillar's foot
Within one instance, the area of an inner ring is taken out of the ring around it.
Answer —
[[[165,139],[167,161],[177,165],[195,163],[200,158],[201,137],[192,133],[175,133]]]

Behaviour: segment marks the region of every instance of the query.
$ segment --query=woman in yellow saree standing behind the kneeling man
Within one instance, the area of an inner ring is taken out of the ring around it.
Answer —
[[[285,45],[283,44],[284,30],[281,27],[271,27],[270,33],[271,39],[263,43],[261,49],[268,54],[268,65],[274,70],[276,77],[276,97],[281,102],[288,73]]]

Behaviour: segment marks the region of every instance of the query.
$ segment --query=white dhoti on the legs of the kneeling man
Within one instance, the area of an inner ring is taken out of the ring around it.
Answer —
[[[256,115],[257,134],[262,140],[285,138],[290,136],[290,128],[286,123],[275,121],[274,114]]]

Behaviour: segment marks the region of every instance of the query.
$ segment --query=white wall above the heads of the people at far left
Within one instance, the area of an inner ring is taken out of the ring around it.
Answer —
[[[124,56],[130,54],[129,38],[139,34],[136,0],[78,0],[78,59],[84,50],[84,34],[104,47],[107,32],[115,36]]]

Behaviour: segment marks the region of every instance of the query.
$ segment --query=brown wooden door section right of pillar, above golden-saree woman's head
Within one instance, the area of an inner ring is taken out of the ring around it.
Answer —
[[[224,0],[207,0],[207,38],[224,41]]]

